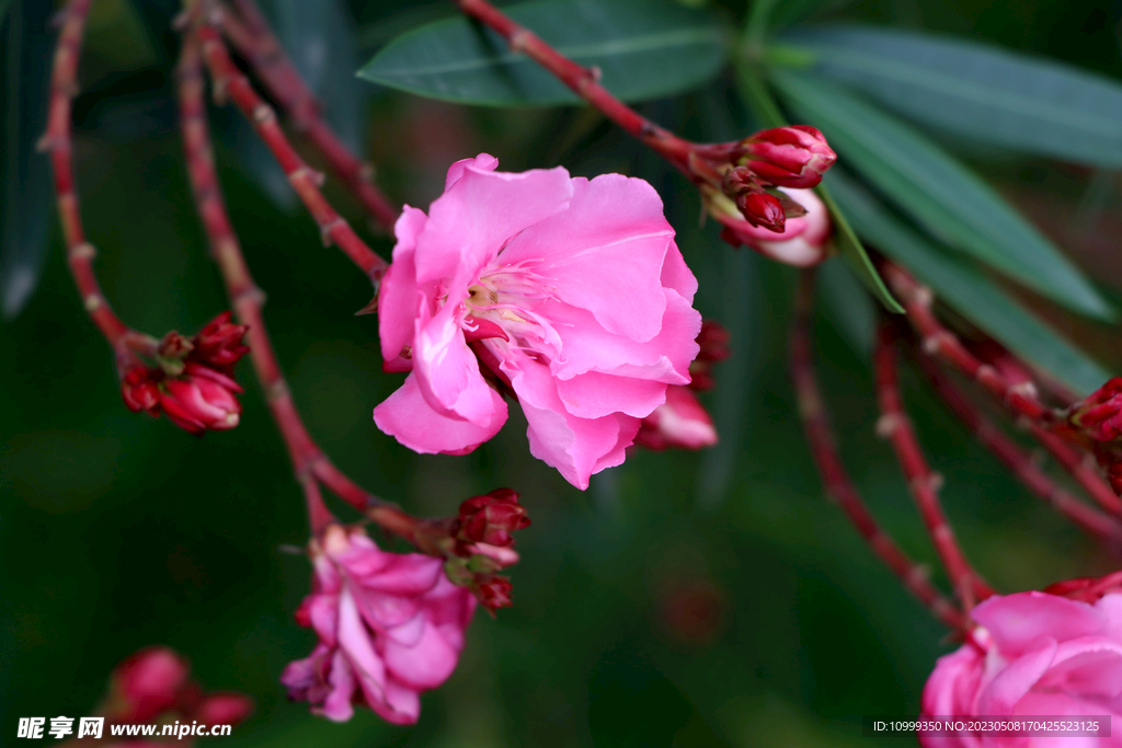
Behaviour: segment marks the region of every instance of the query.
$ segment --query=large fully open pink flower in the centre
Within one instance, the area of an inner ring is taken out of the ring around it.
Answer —
[[[374,419],[416,452],[463,454],[506,422],[507,391],[531,453],[585,489],[689,382],[697,280],[642,179],[497,166],[453,164],[429,214],[397,221],[378,322],[386,370],[410,375]]]

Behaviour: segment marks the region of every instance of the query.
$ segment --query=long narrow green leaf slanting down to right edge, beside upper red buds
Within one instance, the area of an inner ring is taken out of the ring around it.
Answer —
[[[820,79],[782,70],[771,76],[791,109],[822,130],[843,163],[934,237],[1073,311],[1114,318],[1094,286],[1043,234],[921,132]]]

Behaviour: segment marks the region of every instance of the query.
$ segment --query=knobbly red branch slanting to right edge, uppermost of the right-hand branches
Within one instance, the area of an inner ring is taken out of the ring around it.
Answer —
[[[946,361],[954,369],[977,381],[1006,404],[1014,414],[1026,418],[1030,433],[1079,482],[1098,506],[1111,514],[1122,514],[1122,500],[1098,474],[1083,452],[1049,431],[1057,421],[1055,410],[1045,407],[1031,385],[1011,385],[993,367],[980,361],[958,338],[947,330],[931,311],[934,296],[907,270],[893,262],[883,262],[881,270],[892,290],[908,312],[908,318],[922,339],[925,352]]]

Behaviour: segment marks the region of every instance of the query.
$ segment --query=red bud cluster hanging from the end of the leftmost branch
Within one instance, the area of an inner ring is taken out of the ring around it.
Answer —
[[[233,364],[249,352],[241,338],[248,327],[223,312],[191,339],[169,332],[156,350],[156,366],[138,364],[121,378],[121,396],[134,413],[167,415],[176,426],[202,435],[238,425],[242,391]]]

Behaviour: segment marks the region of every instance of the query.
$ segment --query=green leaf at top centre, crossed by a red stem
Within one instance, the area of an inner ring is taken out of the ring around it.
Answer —
[[[718,16],[666,0],[546,0],[507,9],[562,55],[598,67],[624,101],[659,99],[716,77],[730,33]],[[375,55],[359,77],[421,96],[489,107],[580,98],[524,54],[466,18],[423,26]]]

